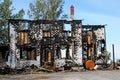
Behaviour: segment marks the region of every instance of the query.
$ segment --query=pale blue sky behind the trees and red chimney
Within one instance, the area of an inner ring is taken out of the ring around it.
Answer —
[[[12,0],[17,12],[28,10],[29,3],[35,0]],[[115,57],[120,59],[120,0],[64,0],[63,13],[70,17],[70,6],[73,5],[74,19],[83,20],[86,25],[106,25],[107,51],[112,54],[112,44],[115,47]],[[26,13],[27,14],[27,13]],[[27,19],[28,17],[25,16]]]

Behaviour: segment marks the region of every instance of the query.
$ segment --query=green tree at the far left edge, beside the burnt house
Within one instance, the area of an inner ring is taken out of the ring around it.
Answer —
[[[18,13],[13,14],[15,8],[12,6],[12,0],[0,1],[0,45],[5,45],[8,42],[8,19],[23,18],[24,10],[21,9]]]

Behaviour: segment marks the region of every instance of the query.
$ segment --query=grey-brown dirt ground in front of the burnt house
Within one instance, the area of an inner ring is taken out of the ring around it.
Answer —
[[[120,80],[120,70],[21,74],[0,80]]]

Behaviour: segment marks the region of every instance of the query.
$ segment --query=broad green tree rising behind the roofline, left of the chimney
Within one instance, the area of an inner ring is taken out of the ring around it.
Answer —
[[[36,0],[29,4],[29,18],[56,20],[63,12],[63,4],[63,0]]]

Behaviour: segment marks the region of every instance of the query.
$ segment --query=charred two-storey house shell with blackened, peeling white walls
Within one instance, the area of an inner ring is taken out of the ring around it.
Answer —
[[[25,19],[9,19],[8,25],[6,63],[11,68],[33,64],[83,66],[84,60],[96,64],[107,61],[105,25],[82,25],[82,20]],[[70,30],[65,29],[66,25]],[[100,56],[103,62],[99,62]]]

